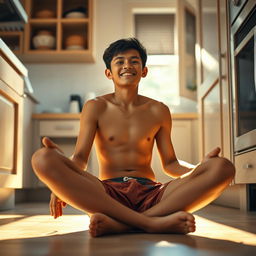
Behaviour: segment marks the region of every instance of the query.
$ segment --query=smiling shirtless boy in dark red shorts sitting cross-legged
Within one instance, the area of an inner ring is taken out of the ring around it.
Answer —
[[[90,214],[93,237],[140,230],[148,233],[195,231],[194,216],[232,180],[232,163],[213,149],[194,167],[179,162],[170,139],[167,106],[138,94],[146,77],[146,51],[134,38],[112,43],[104,53],[105,75],[114,92],[85,103],[74,154],[69,159],[50,139],[32,157],[36,175],[52,191],[57,218],[67,203]],[[99,178],[86,171],[93,142]],[[151,168],[156,142],[163,171],[176,178],[155,182]]]

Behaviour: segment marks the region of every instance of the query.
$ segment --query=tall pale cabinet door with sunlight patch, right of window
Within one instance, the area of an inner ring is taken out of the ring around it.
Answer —
[[[219,3],[199,1],[200,80],[198,88],[201,117],[201,156],[222,143],[222,93],[219,74]]]

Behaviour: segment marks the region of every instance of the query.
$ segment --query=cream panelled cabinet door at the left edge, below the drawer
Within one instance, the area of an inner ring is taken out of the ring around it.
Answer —
[[[22,186],[23,99],[0,80],[0,187]]]

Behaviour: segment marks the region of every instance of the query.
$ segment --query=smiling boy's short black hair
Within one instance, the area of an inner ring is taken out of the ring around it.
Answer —
[[[136,38],[124,38],[110,44],[103,54],[103,60],[105,62],[106,68],[111,69],[110,63],[114,56],[130,49],[134,49],[139,52],[142,60],[142,67],[144,68],[147,61],[147,51]]]

